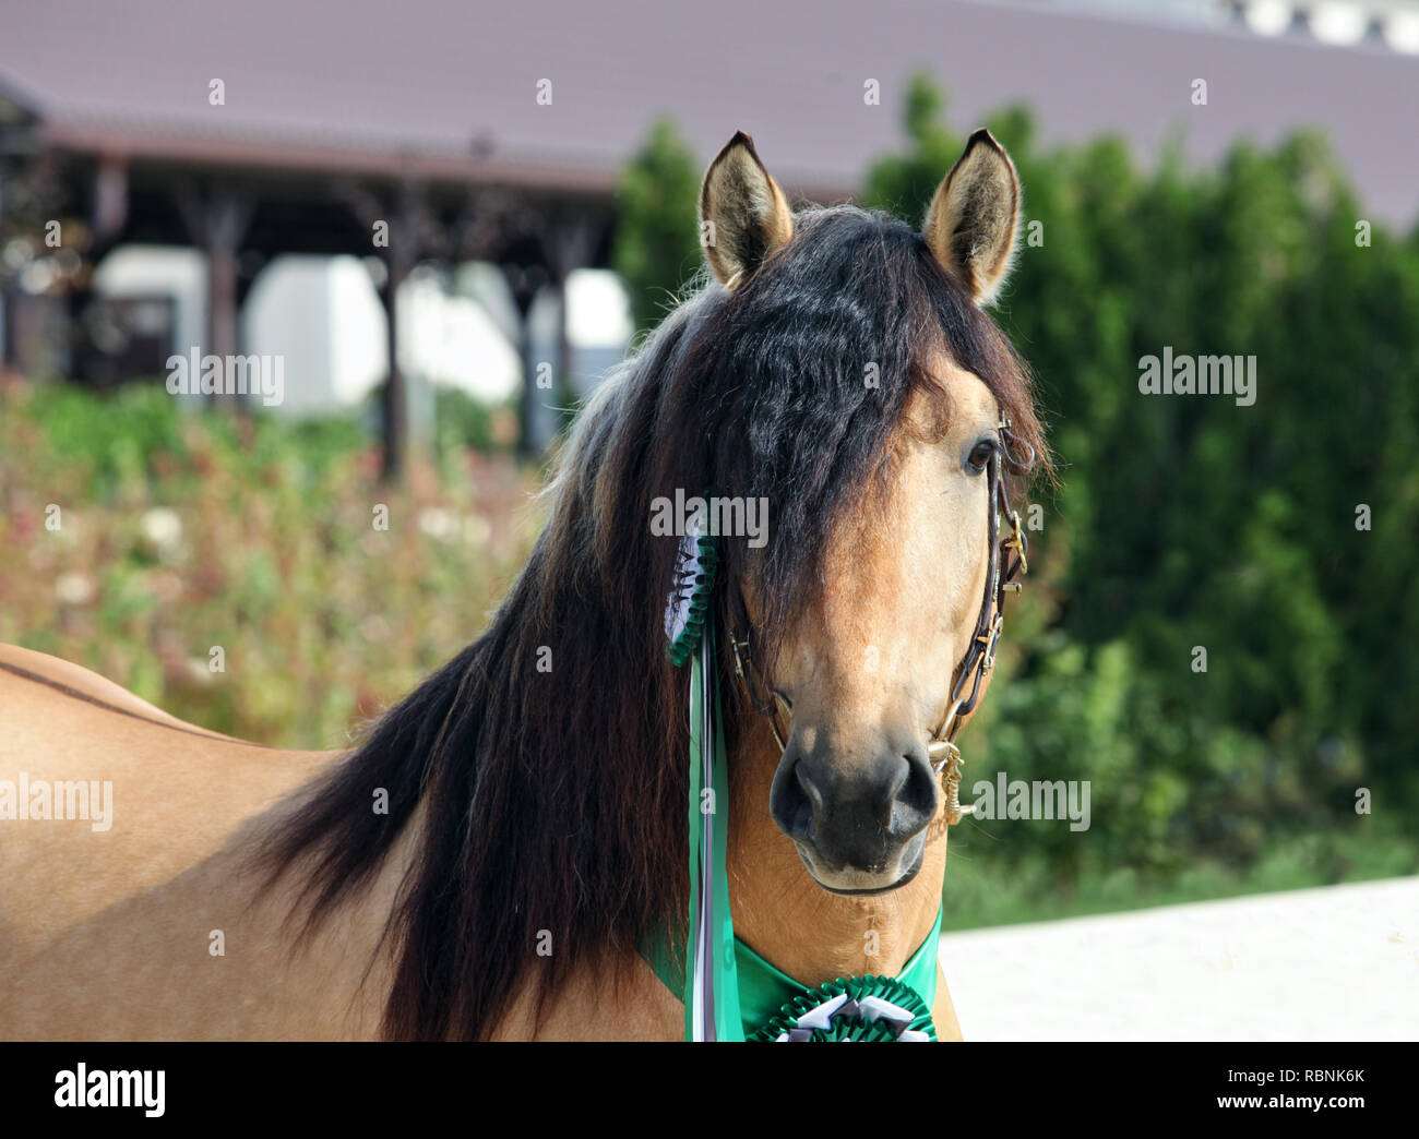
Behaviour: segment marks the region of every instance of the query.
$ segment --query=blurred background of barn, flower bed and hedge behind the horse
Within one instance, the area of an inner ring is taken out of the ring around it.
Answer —
[[[734,130],[915,220],[983,123],[1063,470],[966,783],[1093,817],[959,827],[948,928],[1413,874],[1416,112],[1408,0],[9,3],[0,640],[342,746],[482,628]],[[1139,397],[1164,346],[1254,406]]]

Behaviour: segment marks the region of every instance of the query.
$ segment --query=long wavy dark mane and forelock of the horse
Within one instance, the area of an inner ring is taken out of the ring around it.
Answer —
[[[683,302],[602,384],[488,630],[267,845],[272,881],[304,875],[309,929],[372,881],[417,816],[387,930],[386,1037],[484,1038],[529,970],[545,1000],[573,966],[614,967],[647,930],[683,929],[687,685],[666,660],[677,540],[651,535],[654,498],[712,485],[768,499],[768,546],[731,538],[724,553],[728,582],[755,574],[755,654],[772,671],[832,528],[883,484],[908,396],[928,391],[949,414],[937,353],[978,374],[1044,454],[1026,369],[914,230],[844,206],[796,221],[742,288]],[[739,590],[718,599],[721,621],[746,628]],[[748,711],[727,708],[731,755]],[[387,814],[370,809],[377,787]]]

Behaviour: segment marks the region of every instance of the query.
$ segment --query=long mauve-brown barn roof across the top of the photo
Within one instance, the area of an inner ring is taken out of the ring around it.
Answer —
[[[1142,156],[1325,129],[1376,217],[1419,207],[1419,60],[1010,4],[873,0],[10,0],[0,92],[57,145],[131,156],[407,172],[609,191],[670,113],[708,157],[752,133],[790,190],[836,197],[901,146],[905,78],[952,122],[1026,102],[1046,143],[1101,132]],[[209,105],[220,78],[226,105]],[[1206,106],[1189,101],[1208,81]],[[538,105],[539,79],[552,81]],[[878,79],[881,105],[863,84]]]

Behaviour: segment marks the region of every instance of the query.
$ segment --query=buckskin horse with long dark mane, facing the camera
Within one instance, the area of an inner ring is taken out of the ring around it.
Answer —
[[[690,889],[677,540],[650,518],[705,487],[772,523],[724,540],[714,600],[735,929],[803,984],[900,970],[941,908],[954,796],[929,743],[989,599],[988,472],[1027,477],[1010,440],[1049,462],[985,311],[1019,201],[978,130],[920,230],[795,213],[735,135],[704,177],[695,291],[570,428],[487,630],[352,748],[217,735],[0,650],[10,806],[21,782],[55,816],[112,786],[105,831],[0,810],[0,1035],[681,1038],[641,952],[684,935]]]

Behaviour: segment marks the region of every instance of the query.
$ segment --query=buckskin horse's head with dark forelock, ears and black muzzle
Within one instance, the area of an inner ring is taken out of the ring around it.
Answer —
[[[934,760],[989,685],[1003,600],[992,515],[1033,448],[1005,424],[1037,427],[1023,366],[979,309],[1007,277],[1019,200],[986,130],[920,234],[861,211],[795,216],[742,133],[704,179],[704,252],[735,338],[719,367],[761,389],[738,400],[731,434],[773,468],[721,460],[718,472],[766,489],[780,523],[738,574],[745,651],[756,640],[771,658],[753,672],[780,742],[769,810],[833,892],[917,875],[944,810]],[[792,516],[796,496],[829,516]]]

